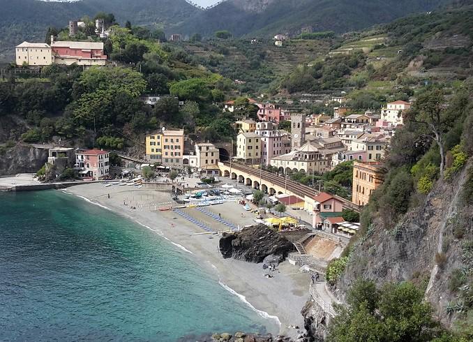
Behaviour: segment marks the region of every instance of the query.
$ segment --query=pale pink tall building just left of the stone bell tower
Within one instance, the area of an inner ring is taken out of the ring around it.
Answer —
[[[281,133],[273,122],[258,122],[255,133],[261,137],[261,163],[270,165],[271,158],[291,151],[291,142],[286,134]]]

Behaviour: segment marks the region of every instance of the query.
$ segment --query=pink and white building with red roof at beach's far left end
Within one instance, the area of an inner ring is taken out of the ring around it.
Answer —
[[[75,154],[75,170],[81,178],[101,179],[109,174],[109,153],[101,149],[89,149]]]

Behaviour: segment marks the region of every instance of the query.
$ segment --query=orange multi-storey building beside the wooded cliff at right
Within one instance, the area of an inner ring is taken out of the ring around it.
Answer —
[[[355,205],[368,204],[370,195],[382,184],[382,176],[382,163],[354,161],[352,202]]]

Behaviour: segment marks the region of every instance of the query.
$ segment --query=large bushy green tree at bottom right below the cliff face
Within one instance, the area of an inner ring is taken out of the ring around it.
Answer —
[[[388,283],[377,290],[371,281],[357,280],[347,294],[347,306],[336,306],[327,341],[431,341],[442,335],[433,308],[412,283]]]

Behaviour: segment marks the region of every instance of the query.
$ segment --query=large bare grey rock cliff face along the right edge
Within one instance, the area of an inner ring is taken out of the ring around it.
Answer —
[[[375,228],[373,235],[355,248],[335,289],[340,299],[358,277],[372,279],[378,285],[413,281],[426,289],[426,299],[435,308],[437,318],[446,326],[451,324],[453,316],[445,309],[455,299],[449,278],[453,269],[463,266],[463,246],[473,238],[472,207],[461,199],[470,165],[471,160],[451,182],[439,181],[421,205],[408,211],[396,227]]]

